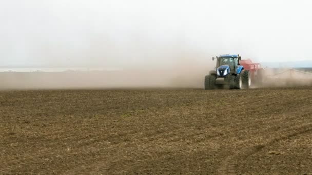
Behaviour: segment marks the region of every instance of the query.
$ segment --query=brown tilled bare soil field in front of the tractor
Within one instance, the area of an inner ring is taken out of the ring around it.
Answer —
[[[311,174],[312,88],[0,92],[0,174]]]

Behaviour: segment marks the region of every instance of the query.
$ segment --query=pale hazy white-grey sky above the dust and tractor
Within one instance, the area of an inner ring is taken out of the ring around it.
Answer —
[[[312,60],[312,1],[0,0],[0,66]]]

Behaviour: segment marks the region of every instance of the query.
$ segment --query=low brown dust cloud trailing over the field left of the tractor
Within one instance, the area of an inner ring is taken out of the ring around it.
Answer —
[[[145,89],[203,88],[212,61],[196,61],[196,54],[161,67],[135,65],[122,70],[64,72],[2,72],[0,89]],[[198,55],[197,55],[198,56]]]

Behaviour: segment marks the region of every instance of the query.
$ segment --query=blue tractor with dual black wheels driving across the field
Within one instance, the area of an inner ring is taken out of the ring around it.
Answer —
[[[216,70],[210,71],[205,77],[205,90],[221,89],[249,89],[251,84],[250,71],[240,65],[239,55],[220,55],[217,59]]]

